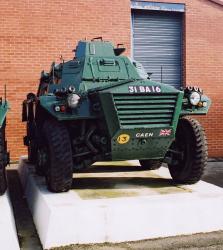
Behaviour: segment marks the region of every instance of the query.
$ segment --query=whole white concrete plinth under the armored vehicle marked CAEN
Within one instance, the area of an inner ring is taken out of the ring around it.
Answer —
[[[73,190],[62,194],[48,192],[23,159],[19,173],[44,249],[223,229],[223,189],[202,181],[174,186],[164,167],[99,163],[75,174]]]

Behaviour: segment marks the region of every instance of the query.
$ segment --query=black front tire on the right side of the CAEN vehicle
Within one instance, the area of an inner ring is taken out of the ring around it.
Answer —
[[[172,163],[168,164],[174,182],[198,182],[204,173],[208,158],[206,136],[200,123],[189,117],[181,118],[171,149],[182,153],[181,157],[171,154]]]

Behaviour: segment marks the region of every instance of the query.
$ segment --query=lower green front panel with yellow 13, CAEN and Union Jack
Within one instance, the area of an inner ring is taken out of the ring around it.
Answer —
[[[173,139],[172,127],[120,129],[111,139],[112,160],[163,159]]]

